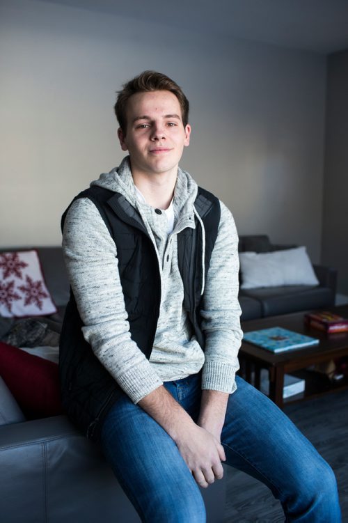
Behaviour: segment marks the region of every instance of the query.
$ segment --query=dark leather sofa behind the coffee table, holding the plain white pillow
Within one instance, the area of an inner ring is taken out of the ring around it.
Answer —
[[[239,252],[265,253],[292,247],[296,247],[296,245],[271,244],[267,235],[239,236]],[[239,290],[242,321],[333,306],[337,271],[322,265],[313,265],[313,268],[319,280],[319,286],[301,285]],[[242,279],[242,274],[240,278]]]

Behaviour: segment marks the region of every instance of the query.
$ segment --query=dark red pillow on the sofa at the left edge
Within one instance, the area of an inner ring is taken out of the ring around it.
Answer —
[[[0,342],[0,375],[27,419],[63,414],[53,361]]]

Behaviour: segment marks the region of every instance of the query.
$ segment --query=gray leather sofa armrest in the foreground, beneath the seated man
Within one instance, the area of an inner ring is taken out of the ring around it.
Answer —
[[[139,523],[100,446],[66,416],[0,426],[0,462],[3,521]]]

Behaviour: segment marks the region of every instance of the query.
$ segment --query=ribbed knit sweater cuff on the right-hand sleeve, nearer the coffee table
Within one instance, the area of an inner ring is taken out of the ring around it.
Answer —
[[[227,392],[231,394],[237,389],[235,383],[235,366],[205,361],[202,370],[202,389]]]

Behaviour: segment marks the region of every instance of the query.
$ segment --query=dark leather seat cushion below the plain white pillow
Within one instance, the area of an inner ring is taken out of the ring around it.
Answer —
[[[243,295],[260,302],[262,316],[320,309],[331,306],[333,302],[333,291],[324,287],[284,286],[250,289],[242,292]]]

